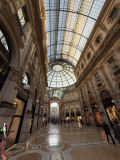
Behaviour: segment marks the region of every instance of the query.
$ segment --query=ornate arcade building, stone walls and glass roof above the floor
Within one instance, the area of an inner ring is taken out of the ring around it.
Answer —
[[[0,1],[6,148],[51,119],[120,123],[120,0],[65,1]]]

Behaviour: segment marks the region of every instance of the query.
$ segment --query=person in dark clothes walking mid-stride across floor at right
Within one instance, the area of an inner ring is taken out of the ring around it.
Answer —
[[[106,136],[107,136],[107,141],[108,141],[108,143],[109,143],[108,136],[110,136],[111,139],[112,139],[113,144],[116,145],[116,144],[115,144],[115,141],[114,141],[114,139],[113,139],[113,137],[112,137],[112,135],[111,135],[111,133],[110,133],[110,128],[109,128],[109,126],[105,123],[105,121],[103,122],[103,129],[104,129],[105,134],[106,134]]]

